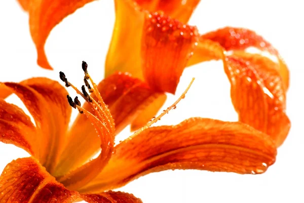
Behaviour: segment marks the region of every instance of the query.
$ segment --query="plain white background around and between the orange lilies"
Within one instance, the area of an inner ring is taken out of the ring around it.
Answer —
[[[204,0],[189,21],[189,24],[197,25],[201,33],[228,25],[253,29],[269,40],[286,60],[290,69],[287,114],[292,127],[287,140],[278,149],[275,165],[262,175],[165,171],[139,178],[121,188],[122,191],[133,193],[145,203],[304,202],[302,8],[298,0]],[[96,1],[68,16],[48,38],[46,53],[55,69],[49,71],[36,65],[27,14],[14,0],[0,1],[0,81],[19,82],[32,76],[59,79],[58,72],[64,71],[73,83],[80,86],[83,77],[81,61],[85,60],[91,75],[99,82],[103,77],[113,23],[113,1]],[[237,120],[222,63],[208,62],[187,68],[176,95],[184,90],[193,76],[196,80],[186,98],[157,125],[177,124],[192,116]],[[169,95],[165,106],[176,98]],[[8,101],[22,104],[15,96]],[[74,110],[73,116],[76,114]],[[129,129],[118,138],[124,139],[128,135]],[[12,159],[22,156],[27,156],[23,150],[0,143],[0,171]]]

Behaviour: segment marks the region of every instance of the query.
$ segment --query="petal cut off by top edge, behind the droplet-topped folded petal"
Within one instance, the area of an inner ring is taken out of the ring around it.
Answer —
[[[135,0],[135,2],[150,13],[161,11],[171,18],[187,23],[200,0]]]

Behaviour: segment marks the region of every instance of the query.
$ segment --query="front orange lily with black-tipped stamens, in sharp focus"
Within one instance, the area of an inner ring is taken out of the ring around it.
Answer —
[[[115,135],[159,93],[121,72],[96,85],[85,62],[83,69],[91,95],[85,86],[82,91],[75,88],[60,72],[66,87],[86,100],[83,106],[78,97],[72,100],[64,87],[48,78],[0,84],[1,98],[15,93],[35,121],[34,125],[19,107],[0,100],[0,141],[32,155],[4,169],[1,203],[141,202],[132,194],[108,190],[168,169],[259,174],[275,161],[273,139],[241,122],[196,117],[176,126],[150,127],[184,98],[189,87],[160,116],[115,146]],[[71,128],[69,105],[80,112]],[[100,148],[99,156],[90,160]]]

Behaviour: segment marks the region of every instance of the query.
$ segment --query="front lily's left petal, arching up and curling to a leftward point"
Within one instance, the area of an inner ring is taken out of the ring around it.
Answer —
[[[71,107],[66,102],[67,92],[58,82],[36,77],[21,83],[4,83],[27,107],[36,124],[40,163],[50,172],[62,150]]]

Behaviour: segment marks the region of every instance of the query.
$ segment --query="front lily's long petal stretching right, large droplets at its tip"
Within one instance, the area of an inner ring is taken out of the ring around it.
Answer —
[[[115,149],[109,164],[81,192],[121,187],[169,169],[259,174],[274,164],[277,154],[270,136],[240,122],[207,118],[149,128]]]

